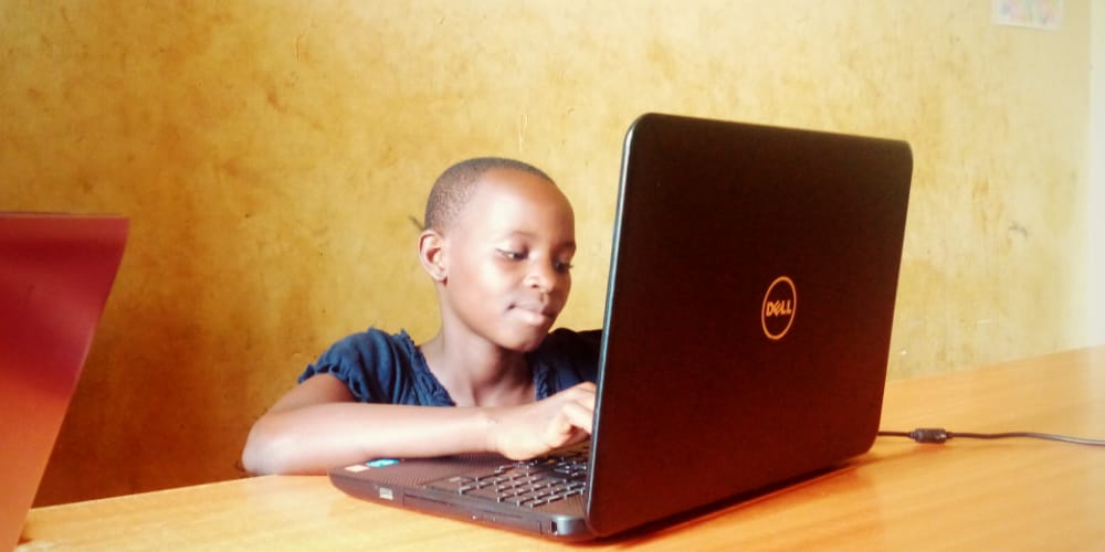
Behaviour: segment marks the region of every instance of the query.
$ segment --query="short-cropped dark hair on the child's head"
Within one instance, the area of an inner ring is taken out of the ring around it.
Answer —
[[[528,172],[555,184],[545,171],[517,159],[502,157],[466,159],[445,169],[433,183],[425,202],[425,219],[423,219],[425,227],[444,232],[452,226],[472,198],[476,181],[487,171],[495,169]]]

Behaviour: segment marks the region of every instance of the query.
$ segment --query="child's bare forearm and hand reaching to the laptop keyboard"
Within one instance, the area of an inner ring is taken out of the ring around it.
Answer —
[[[371,458],[495,452],[530,458],[591,431],[594,384],[509,407],[439,407],[354,401],[341,381],[317,374],[253,425],[242,452],[252,474],[325,474]]]

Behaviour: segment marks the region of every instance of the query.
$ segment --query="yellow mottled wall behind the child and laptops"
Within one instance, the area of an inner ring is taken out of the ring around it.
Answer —
[[[529,160],[600,323],[622,134],[660,110],[907,139],[893,376],[1083,344],[1088,0],[0,0],[0,209],[133,235],[39,503],[232,478],[335,339],[435,330],[433,178]]]

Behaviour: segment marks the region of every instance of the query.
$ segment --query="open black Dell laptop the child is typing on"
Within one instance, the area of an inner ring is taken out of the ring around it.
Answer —
[[[641,116],[623,146],[589,446],[525,463],[373,459],[330,480],[376,502],[585,540],[865,453],[912,172],[904,141]]]

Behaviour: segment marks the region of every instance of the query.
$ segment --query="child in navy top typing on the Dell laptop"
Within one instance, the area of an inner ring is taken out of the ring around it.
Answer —
[[[406,331],[369,329],[335,343],[253,425],[245,469],[319,474],[482,452],[525,459],[586,439],[598,335],[549,333],[571,288],[575,240],[571,205],[540,170],[499,158],[448,169],[418,241],[438,335],[415,346]]]

